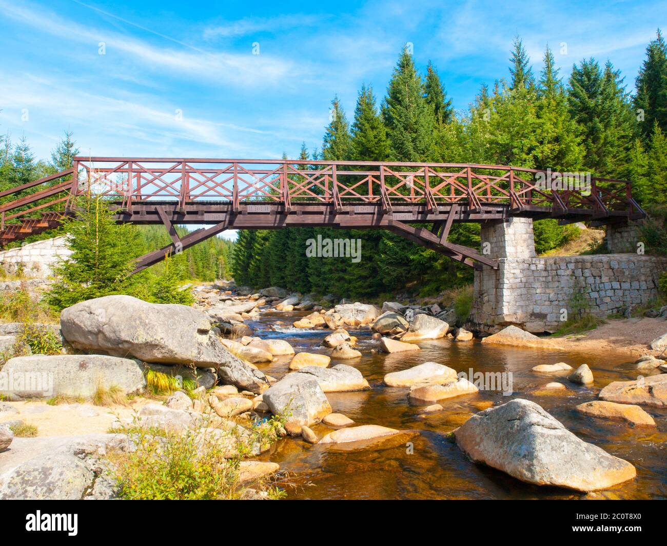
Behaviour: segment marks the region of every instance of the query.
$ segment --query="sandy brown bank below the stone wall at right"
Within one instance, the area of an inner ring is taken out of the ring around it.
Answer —
[[[565,337],[550,337],[562,349],[574,351],[614,351],[631,357],[646,353],[658,356],[649,343],[667,333],[665,319],[609,319],[590,332]]]

